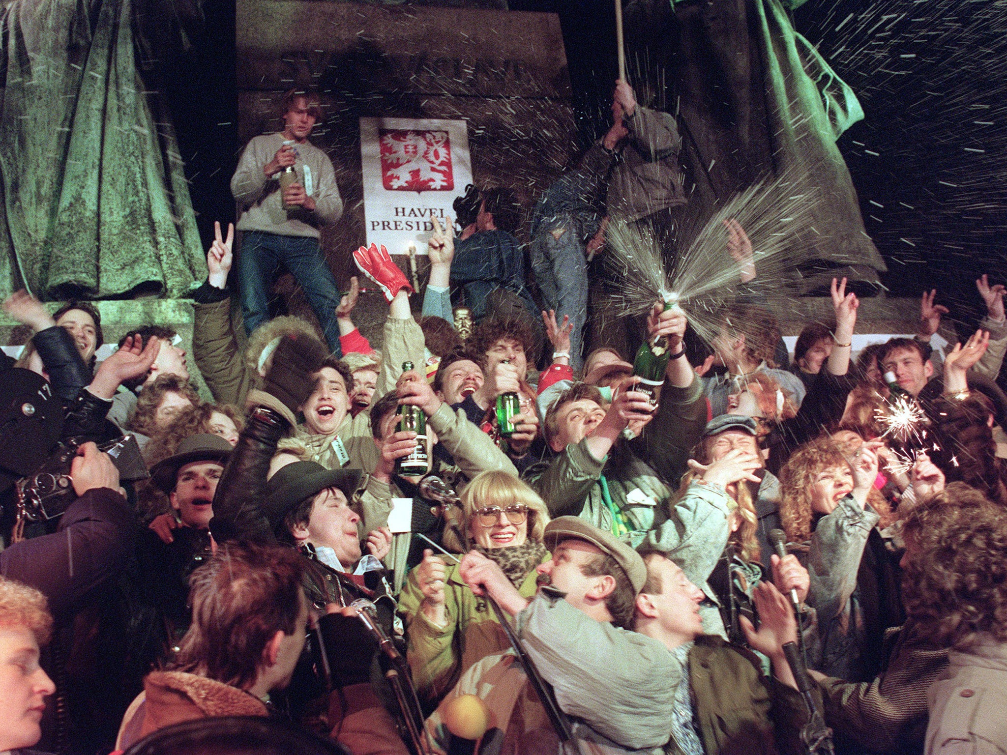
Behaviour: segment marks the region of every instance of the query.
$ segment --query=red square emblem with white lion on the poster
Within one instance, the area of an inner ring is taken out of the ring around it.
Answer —
[[[450,191],[451,141],[446,131],[379,133],[382,184],[390,191]]]

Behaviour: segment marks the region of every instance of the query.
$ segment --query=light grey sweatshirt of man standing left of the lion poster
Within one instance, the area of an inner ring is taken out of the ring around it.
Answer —
[[[317,239],[322,225],[335,222],[342,214],[342,198],[335,185],[332,162],[328,155],[308,142],[294,145],[297,149],[297,162],[294,164],[297,181],[315,200],[315,209],[309,212],[297,207],[287,212],[283,209],[280,194],[280,174],[267,178],[263,172],[283,142],[283,134],[280,133],[257,136],[242,153],[238,170],[231,179],[231,193],[244,209],[238,220],[238,230]],[[305,179],[305,165],[310,172],[310,182]]]

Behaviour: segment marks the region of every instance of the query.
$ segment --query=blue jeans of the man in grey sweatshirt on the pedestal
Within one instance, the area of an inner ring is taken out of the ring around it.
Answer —
[[[335,308],[339,306],[339,287],[332,271],[321,256],[318,240],[305,236],[279,236],[262,231],[246,231],[238,255],[238,285],[241,289],[245,332],[269,320],[269,302],[273,283],[284,267],[293,274],[321,324],[325,341],[332,353],[342,355]]]

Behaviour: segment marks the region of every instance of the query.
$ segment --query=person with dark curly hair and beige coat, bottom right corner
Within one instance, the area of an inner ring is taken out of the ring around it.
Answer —
[[[961,482],[902,524],[905,608],[921,636],[950,646],[929,689],[927,755],[1007,751],[1007,517]]]

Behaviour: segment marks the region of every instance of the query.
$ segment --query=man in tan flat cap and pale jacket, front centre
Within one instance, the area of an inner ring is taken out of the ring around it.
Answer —
[[[491,596],[517,618],[518,636],[553,687],[572,739],[561,749],[512,651],[466,671],[427,720],[427,730],[447,751],[454,735],[445,712],[454,699],[476,695],[493,714],[483,748],[493,742],[500,752],[663,752],[682,669],[662,642],[627,629],[646,581],[643,560],[611,533],[576,516],[553,519],[545,543],[553,558],[539,567],[545,584],[530,601],[480,554],[466,555],[460,574],[472,592]]]

